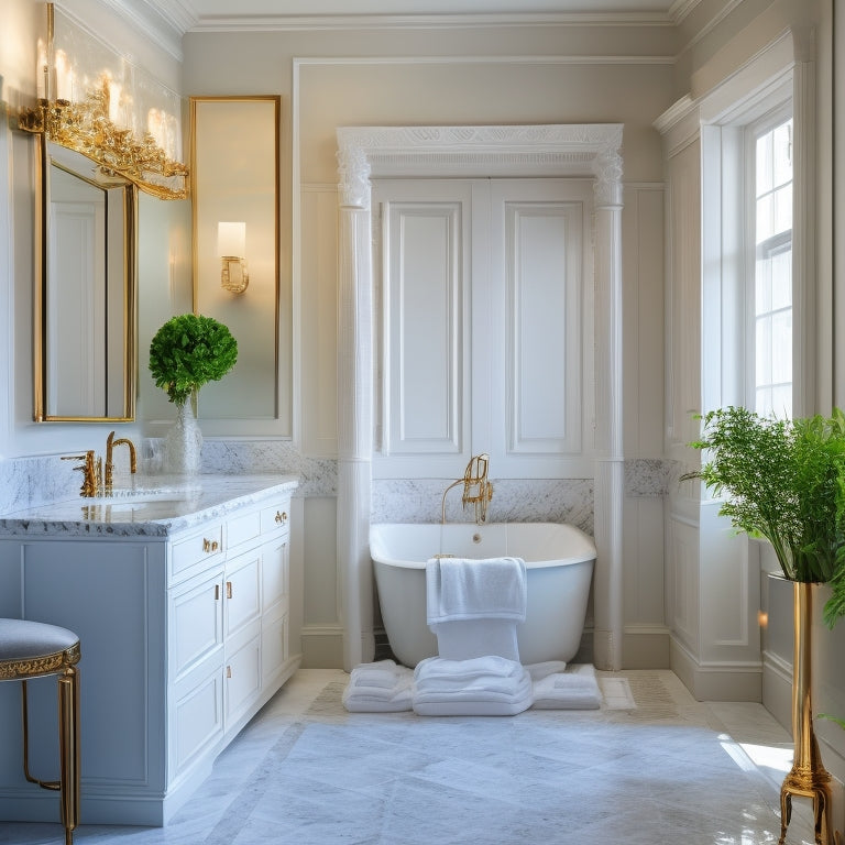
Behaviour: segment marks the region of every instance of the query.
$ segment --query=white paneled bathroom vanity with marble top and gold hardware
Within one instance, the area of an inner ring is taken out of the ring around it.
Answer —
[[[155,489],[0,516],[0,616],[81,641],[83,824],[162,825],[294,673],[294,476]],[[298,649],[297,649],[298,650]],[[55,821],[25,782],[20,690],[0,684],[0,820]],[[57,777],[55,679],[30,683],[30,769]]]

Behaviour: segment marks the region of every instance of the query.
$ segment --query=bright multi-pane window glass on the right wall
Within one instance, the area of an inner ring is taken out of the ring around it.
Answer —
[[[792,119],[751,132],[754,285],[748,404],[792,416]]]

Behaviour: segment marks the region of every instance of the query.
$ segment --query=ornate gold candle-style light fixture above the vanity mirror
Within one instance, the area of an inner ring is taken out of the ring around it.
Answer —
[[[43,96],[34,108],[21,112],[19,127],[88,156],[99,166],[105,182],[122,176],[161,199],[187,197],[188,167],[171,158],[151,131],[162,125],[157,110],[155,116],[150,116],[155,125],[149,124],[141,139],[119,127],[114,119],[120,87],[108,72],[103,72],[79,102],[68,99],[68,88],[73,86],[63,85],[63,80],[73,78],[73,68],[64,66],[66,59],[61,51],[61,55],[54,52],[53,3],[46,6],[47,47],[45,54],[42,52],[39,67],[39,89]],[[58,96],[53,96],[54,92]]]

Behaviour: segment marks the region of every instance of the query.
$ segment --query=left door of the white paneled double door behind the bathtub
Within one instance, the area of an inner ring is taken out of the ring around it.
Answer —
[[[382,452],[449,475],[470,458],[470,283],[473,183],[378,183]],[[385,468],[387,469],[387,468]]]

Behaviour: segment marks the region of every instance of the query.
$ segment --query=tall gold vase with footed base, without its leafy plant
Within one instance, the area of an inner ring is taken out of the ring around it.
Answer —
[[[822,765],[819,744],[813,733],[812,707],[812,583],[794,581],[794,661],[792,668],[792,738],[795,746],[792,768],[780,788],[780,839],[783,845],[787,826],[792,817],[792,795],[813,801],[815,842],[817,845],[841,845],[833,828],[831,808],[831,775]]]

